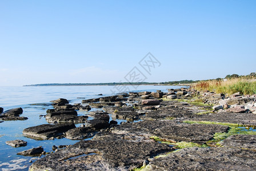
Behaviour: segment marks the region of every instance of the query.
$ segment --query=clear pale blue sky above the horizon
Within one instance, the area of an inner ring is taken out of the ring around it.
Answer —
[[[0,0],[0,86],[256,71],[256,1]],[[147,73],[139,62],[159,61]]]

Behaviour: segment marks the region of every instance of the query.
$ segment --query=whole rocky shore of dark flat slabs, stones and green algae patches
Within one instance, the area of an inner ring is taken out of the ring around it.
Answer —
[[[49,124],[26,128],[23,135],[81,141],[54,145],[51,153],[42,145],[18,154],[41,156],[30,170],[256,170],[255,100],[239,92],[185,88],[120,93],[81,104],[57,99],[41,116]],[[77,114],[93,108],[89,115]],[[13,109],[0,119],[18,120],[21,113]],[[7,143],[21,146],[18,140]]]

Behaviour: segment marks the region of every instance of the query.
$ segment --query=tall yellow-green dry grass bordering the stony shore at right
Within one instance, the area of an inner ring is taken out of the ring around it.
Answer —
[[[227,80],[206,80],[198,82],[193,86],[198,91],[214,91],[216,93],[233,94],[241,92],[243,95],[256,94],[255,78],[233,78]]]

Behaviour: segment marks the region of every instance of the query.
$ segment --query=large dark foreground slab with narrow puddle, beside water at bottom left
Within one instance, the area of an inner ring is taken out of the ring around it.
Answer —
[[[30,170],[131,170],[148,158],[173,150],[154,141],[135,142],[106,136],[102,140],[79,141],[35,161]]]

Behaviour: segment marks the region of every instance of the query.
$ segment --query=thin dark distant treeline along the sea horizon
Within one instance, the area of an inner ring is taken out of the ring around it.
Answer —
[[[148,82],[136,82],[136,83],[50,83],[50,84],[31,84],[25,86],[119,86],[119,85],[173,85],[173,84],[189,84],[195,83],[193,80],[181,80],[174,82],[161,82],[161,83],[148,83]]]

